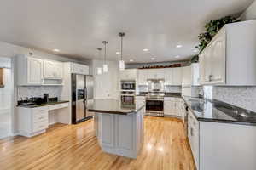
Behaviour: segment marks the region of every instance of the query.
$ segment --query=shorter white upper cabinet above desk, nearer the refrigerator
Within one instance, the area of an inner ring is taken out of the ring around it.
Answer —
[[[44,79],[63,78],[63,63],[44,60]]]

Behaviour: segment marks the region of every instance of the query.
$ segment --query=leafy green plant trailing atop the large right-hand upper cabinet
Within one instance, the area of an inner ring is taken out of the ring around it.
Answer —
[[[201,33],[199,38],[199,45],[195,48],[198,48],[201,52],[204,48],[207,47],[207,44],[211,42],[212,37],[214,37],[218,31],[225,25],[233,22],[238,22],[240,20],[232,16],[225,16],[219,20],[211,20],[205,25],[206,31]]]

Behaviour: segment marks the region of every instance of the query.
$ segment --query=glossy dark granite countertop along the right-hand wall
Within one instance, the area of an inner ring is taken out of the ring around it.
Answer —
[[[256,113],[218,100],[183,98],[198,121],[256,126]]]

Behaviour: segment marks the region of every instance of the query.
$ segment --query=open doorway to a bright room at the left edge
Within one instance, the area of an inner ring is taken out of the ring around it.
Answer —
[[[0,139],[12,135],[12,81],[11,59],[0,57]]]

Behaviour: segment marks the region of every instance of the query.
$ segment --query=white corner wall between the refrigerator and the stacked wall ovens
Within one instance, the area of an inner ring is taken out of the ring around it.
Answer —
[[[96,68],[102,67],[103,60],[92,60],[92,74],[95,79],[95,99],[118,99],[118,62],[108,61],[108,73],[96,74]]]

